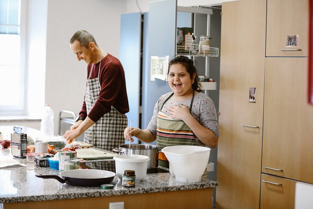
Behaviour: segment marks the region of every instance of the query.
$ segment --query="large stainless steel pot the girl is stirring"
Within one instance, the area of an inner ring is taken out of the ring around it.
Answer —
[[[121,155],[145,155],[150,158],[148,161],[147,170],[156,169],[158,166],[158,149],[153,144],[122,144],[118,146],[119,149],[113,149],[113,152]]]

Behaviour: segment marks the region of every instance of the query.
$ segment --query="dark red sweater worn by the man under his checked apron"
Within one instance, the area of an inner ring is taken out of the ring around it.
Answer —
[[[99,64],[100,62],[94,65],[90,79],[98,77]],[[92,67],[92,64],[88,65],[87,76],[89,76]],[[111,106],[122,114],[128,113],[129,105],[124,69],[120,61],[111,54],[101,60],[99,82],[101,84],[99,97],[88,115],[89,118],[97,122],[104,114],[110,112]],[[87,117],[85,99],[79,116],[84,119]]]

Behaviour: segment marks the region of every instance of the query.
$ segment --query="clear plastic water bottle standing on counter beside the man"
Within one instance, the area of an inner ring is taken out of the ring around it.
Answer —
[[[54,133],[53,117],[53,110],[51,109],[50,105],[46,104],[41,119],[40,131],[49,137],[53,136]]]

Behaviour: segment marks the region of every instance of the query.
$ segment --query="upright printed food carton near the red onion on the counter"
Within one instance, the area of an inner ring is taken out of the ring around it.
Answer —
[[[11,152],[16,158],[26,158],[27,134],[11,134]]]

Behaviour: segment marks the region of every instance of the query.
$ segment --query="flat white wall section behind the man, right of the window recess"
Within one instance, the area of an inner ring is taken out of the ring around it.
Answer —
[[[125,12],[124,0],[48,1],[45,103],[54,110],[55,134],[60,111],[78,115],[86,90],[87,64],[70,50],[70,38],[87,30],[101,49],[118,57],[120,15]]]

